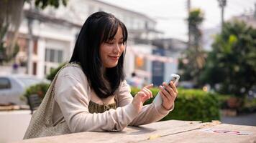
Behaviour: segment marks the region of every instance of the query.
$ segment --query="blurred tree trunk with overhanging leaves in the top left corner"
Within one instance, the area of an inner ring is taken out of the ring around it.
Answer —
[[[67,0],[35,0],[35,6],[40,9],[45,9],[46,6],[58,8],[60,1],[66,6]],[[16,52],[24,2],[30,3],[31,0],[0,0],[0,64],[3,60],[11,59]]]

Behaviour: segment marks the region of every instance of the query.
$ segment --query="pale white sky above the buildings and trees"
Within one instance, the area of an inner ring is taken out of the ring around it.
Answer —
[[[188,16],[187,0],[101,0],[124,9],[137,11],[157,21],[156,29],[163,31],[165,38],[187,40]],[[255,9],[256,0],[227,0],[224,20]],[[220,25],[221,10],[218,0],[191,0],[191,8],[204,11],[202,29],[211,29]]]

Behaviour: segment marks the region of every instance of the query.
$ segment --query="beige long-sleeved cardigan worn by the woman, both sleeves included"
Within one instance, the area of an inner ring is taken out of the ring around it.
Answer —
[[[88,104],[96,95],[88,86],[83,71],[76,66],[68,66],[58,74],[55,83],[52,122],[66,122],[71,132],[122,130],[127,125],[141,125],[156,122],[170,111],[162,106],[148,104],[140,112],[133,107],[132,95],[127,82],[122,82],[116,96],[116,109],[103,113],[90,113]],[[111,103],[114,99],[109,99]],[[103,102],[104,103],[104,102]]]

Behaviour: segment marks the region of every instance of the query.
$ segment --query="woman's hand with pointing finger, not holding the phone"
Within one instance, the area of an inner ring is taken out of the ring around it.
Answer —
[[[140,92],[138,92],[135,97],[132,100],[132,104],[134,107],[140,112],[142,109],[143,103],[147,100],[153,97],[152,92],[150,91],[150,88],[153,87],[153,84],[149,84],[142,89],[140,89]]]

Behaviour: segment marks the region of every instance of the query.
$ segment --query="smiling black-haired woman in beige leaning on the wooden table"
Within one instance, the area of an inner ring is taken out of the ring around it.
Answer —
[[[148,124],[165,117],[173,109],[177,89],[173,83],[163,83],[160,106],[143,106],[152,97],[152,84],[133,98],[124,80],[126,44],[127,28],[119,19],[105,12],[89,16],[78,35],[70,63],[55,76],[24,139],[121,131],[127,125]]]

